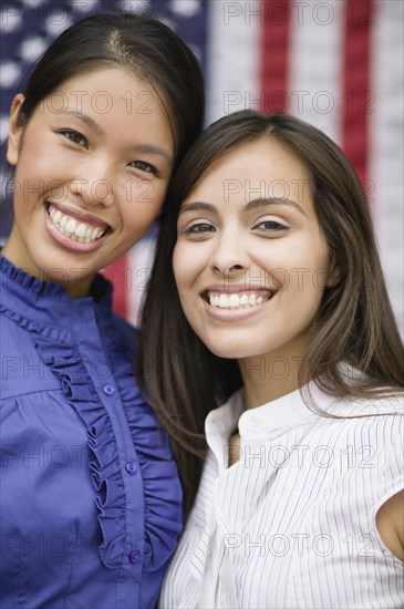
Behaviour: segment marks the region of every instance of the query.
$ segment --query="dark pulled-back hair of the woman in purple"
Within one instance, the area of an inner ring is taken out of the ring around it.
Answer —
[[[35,64],[24,86],[23,126],[64,82],[99,68],[120,66],[148,81],[172,122],[178,162],[200,133],[204,83],[190,49],[164,23],[134,13],[95,14],[63,31]]]

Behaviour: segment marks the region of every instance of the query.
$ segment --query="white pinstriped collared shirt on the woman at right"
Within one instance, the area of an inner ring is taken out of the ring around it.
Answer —
[[[375,515],[404,487],[403,400],[336,402],[313,388],[244,411],[242,392],[209,413],[196,504],[164,582],[164,609],[404,607],[403,564]],[[356,414],[395,412],[352,419]],[[239,421],[241,455],[228,440]]]

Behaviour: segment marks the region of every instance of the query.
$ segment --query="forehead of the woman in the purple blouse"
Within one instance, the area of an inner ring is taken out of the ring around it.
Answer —
[[[116,147],[141,142],[164,149],[173,161],[175,135],[160,96],[148,81],[127,70],[104,66],[69,79],[41,102],[28,127],[54,120],[65,123],[69,117]]]

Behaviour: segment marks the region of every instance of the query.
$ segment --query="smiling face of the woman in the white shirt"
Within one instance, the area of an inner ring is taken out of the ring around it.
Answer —
[[[182,205],[173,266],[185,316],[215,354],[304,357],[332,278],[303,165],[268,137],[214,162]]]

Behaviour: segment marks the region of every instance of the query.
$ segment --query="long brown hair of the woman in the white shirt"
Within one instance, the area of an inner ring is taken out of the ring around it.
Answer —
[[[213,355],[180,307],[172,258],[182,202],[220,156],[268,137],[299,158],[310,176],[314,207],[339,281],[323,293],[312,328],[305,372],[338,396],[374,398],[404,388],[404,349],[390,304],[366,197],[345,155],[322,132],[286,114],[242,111],[211,125],[173,182],[144,307],[137,372],[170,433],[187,492],[194,498],[204,453],[204,420],[241,385],[234,360]],[[341,362],[359,371],[355,382]]]

